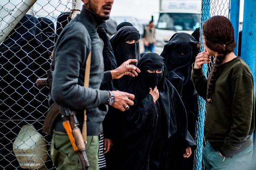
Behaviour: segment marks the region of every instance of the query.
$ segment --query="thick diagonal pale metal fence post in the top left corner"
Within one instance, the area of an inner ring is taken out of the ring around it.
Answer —
[[[19,8],[13,13],[11,18],[0,29],[0,43],[8,36],[12,29],[19,23],[28,10],[34,5],[37,0],[24,0]]]

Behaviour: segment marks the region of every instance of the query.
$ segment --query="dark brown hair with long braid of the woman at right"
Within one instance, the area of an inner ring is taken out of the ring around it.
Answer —
[[[236,42],[234,40],[234,28],[228,18],[224,16],[213,16],[203,24],[203,36],[206,46],[214,52],[218,52],[215,56],[215,64],[212,67],[212,76],[210,77],[207,89],[207,101],[211,103],[211,96],[214,90],[222,64],[226,55],[234,52]]]

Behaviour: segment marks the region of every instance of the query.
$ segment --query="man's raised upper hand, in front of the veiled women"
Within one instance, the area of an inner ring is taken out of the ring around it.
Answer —
[[[138,73],[140,73],[140,69],[138,69],[136,66],[130,64],[130,63],[136,63],[136,59],[129,59],[125,61],[121,66],[116,68],[115,70],[111,70],[112,79],[120,79],[124,75],[128,76],[138,76]]]

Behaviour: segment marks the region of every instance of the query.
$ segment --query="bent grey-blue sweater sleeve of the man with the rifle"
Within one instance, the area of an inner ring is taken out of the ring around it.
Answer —
[[[92,109],[105,104],[109,97],[107,91],[78,84],[81,67],[91,49],[89,33],[78,22],[70,23],[62,32],[54,49],[53,100],[74,109]]]

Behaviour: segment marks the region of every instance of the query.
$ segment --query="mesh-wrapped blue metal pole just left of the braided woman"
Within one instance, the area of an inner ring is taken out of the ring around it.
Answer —
[[[202,0],[202,13],[201,13],[201,28],[204,22],[210,18],[210,0]],[[202,29],[200,29],[200,52],[203,52],[203,38],[202,38]],[[207,64],[203,64],[203,70],[205,75],[207,75]],[[198,111],[198,121],[197,121],[197,129],[196,129],[196,154],[195,154],[195,163],[194,170],[202,170],[202,162],[203,162],[203,130],[204,130],[204,119],[205,119],[205,107],[206,103],[202,97],[198,98],[199,103],[199,111]]]

